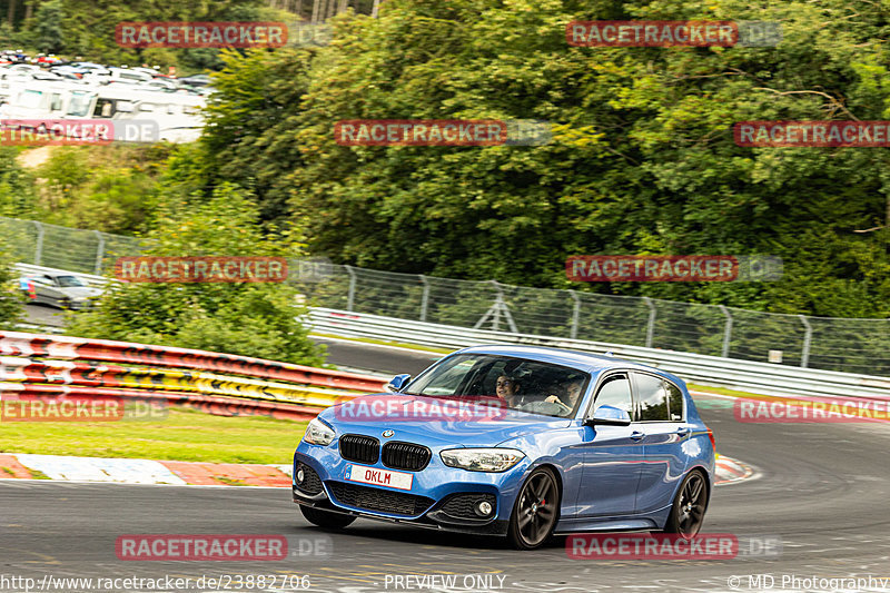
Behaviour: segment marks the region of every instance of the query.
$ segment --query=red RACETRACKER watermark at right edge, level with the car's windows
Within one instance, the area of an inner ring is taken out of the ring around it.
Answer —
[[[890,419],[890,402],[736,399],[732,412],[738,422],[754,424],[887,422]]]

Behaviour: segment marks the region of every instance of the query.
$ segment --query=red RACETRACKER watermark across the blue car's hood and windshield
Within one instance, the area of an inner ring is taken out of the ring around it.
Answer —
[[[334,416],[357,422],[491,422],[503,419],[506,403],[495,396],[412,397],[366,395],[340,398]]]

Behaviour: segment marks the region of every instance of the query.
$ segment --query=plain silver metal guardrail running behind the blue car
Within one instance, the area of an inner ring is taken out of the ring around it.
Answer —
[[[890,399],[888,377],[817,370],[621,344],[471,329],[317,307],[310,309],[309,320],[317,333],[396,339],[423,346],[463,348],[479,344],[526,344],[595,354],[611,352],[616,357],[662,368],[689,382],[768,395]]]

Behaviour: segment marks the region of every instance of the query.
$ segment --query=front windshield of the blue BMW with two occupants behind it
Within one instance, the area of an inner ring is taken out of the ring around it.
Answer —
[[[508,409],[571,417],[590,382],[581,370],[491,354],[458,354],[444,359],[408,386],[411,395],[497,397]]]

